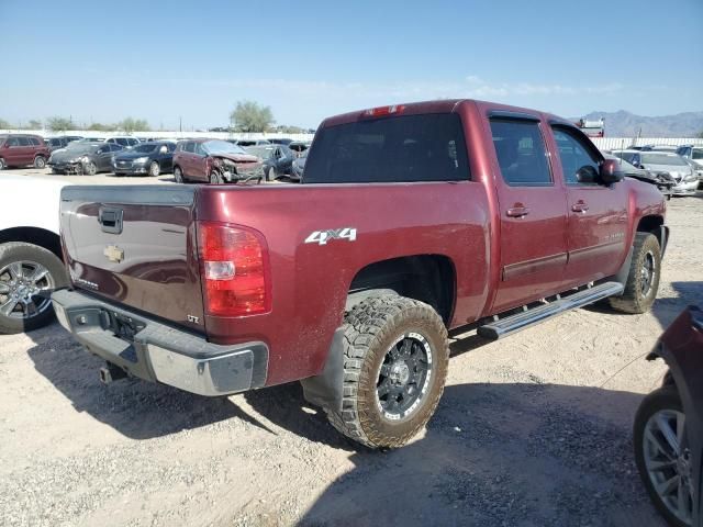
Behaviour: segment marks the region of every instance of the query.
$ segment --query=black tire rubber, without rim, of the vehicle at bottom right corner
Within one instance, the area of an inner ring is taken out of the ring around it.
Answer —
[[[655,505],[659,514],[661,514],[669,525],[673,525],[677,527],[687,527],[687,525],[677,518],[667,507],[667,505],[661,501],[659,494],[655,490],[655,486],[649,479],[649,474],[647,473],[647,467],[645,464],[645,451],[644,451],[644,436],[645,436],[645,427],[647,426],[647,422],[649,417],[661,410],[674,410],[683,413],[683,406],[681,404],[681,396],[677,391],[676,386],[662,386],[658,390],[655,390],[650,394],[648,394],[637,408],[637,413],[635,414],[635,424],[633,427],[633,446],[635,448],[635,464],[637,466],[637,471],[639,472],[639,476],[641,478],[643,484],[647,490],[647,494],[651,500],[651,503]]]

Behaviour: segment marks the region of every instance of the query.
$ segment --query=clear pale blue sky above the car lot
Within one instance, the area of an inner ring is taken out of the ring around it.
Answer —
[[[0,0],[0,119],[315,127],[473,98],[578,117],[703,110],[703,0]]]

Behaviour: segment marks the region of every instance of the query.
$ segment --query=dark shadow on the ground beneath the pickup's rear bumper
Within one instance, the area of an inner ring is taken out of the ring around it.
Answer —
[[[89,355],[58,324],[32,333],[29,356],[36,371],[74,405],[132,439],[150,439],[232,418],[271,431],[225,397],[202,397],[138,379],[104,385],[104,361]]]

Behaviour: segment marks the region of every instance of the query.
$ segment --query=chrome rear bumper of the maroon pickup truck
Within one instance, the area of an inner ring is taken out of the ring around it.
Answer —
[[[264,343],[211,344],[78,291],[56,291],[52,301],[58,322],[76,340],[140,379],[207,396],[266,383],[268,347]]]

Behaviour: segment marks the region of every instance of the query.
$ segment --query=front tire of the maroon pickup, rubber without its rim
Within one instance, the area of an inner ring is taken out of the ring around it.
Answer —
[[[644,278],[641,269],[648,258],[647,255],[651,255],[654,258],[655,272],[652,273],[651,287],[648,294],[643,294]],[[657,298],[660,277],[661,248],[659,247],[659,240],[654,234],[637,233],[635,235],[635,243],[633,244],[633,259],[629,265],[625,291],[622,296],[612,296],[609,299],[611,306],[623,313],[638,314],[649,311]]]

